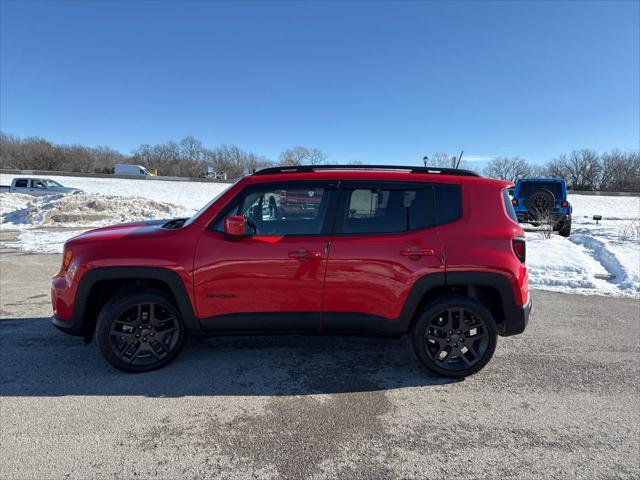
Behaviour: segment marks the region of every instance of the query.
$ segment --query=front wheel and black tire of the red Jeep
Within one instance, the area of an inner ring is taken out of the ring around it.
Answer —
[[[96,321],[102,356],[125,372],[148,372],[171,362],[186,331],[173,302],[156,291],[121,292],[104,306]]]

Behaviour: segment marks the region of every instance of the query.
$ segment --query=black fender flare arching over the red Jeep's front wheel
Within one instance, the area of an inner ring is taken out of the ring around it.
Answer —
[[[187,331],[193,334],[202,331],[184,282],[173,270],[162,267],[99,267],[86,272],[80,280],[73,305],[71,326],[65,329],[67,333],[86,336],[85,317],[89,295],[93,287],[103,280],[155,280],[164,283],[176,300]],[[68,325],[69,322],[63,323]]]

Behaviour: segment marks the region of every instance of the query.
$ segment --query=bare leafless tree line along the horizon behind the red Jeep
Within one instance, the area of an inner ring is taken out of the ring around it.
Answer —
[[[326,160],[327,155],[317,148],[292,147],[283,151],[277,160],[272,160],[236,145],[207,148],[191,136],[179,142],[143,144],[126,155],[109,147],[57,145],[40,137],[21,139],[0,132],[0,166],[19,170],[113,173],[116,163],[131,163],[156,168],[161,175],[204,177],[209,172],[217,172],[226,174],[231,180],[260,168],[319,165]],[[439,167],[455,167],[458,160],[456,156],[441,152],[426,159],[429,166]],[[494,158],[483,169],[476,165],[463,157],[458,166],[509,181],[524,177],[564,178],[573,190],[640,191],[638,151],[614,149],[598,154],[583,149],[559,155],[543,165],[531,164],[517,156]]]

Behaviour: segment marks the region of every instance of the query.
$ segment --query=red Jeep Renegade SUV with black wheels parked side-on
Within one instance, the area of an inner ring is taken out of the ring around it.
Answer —
[[[430,370],[480,370],[531,300],[507,188],[463,170],[304,166],[242,178],[189,219],[69,240],[53,324],[116,368],[189,335],[409,334]]]

